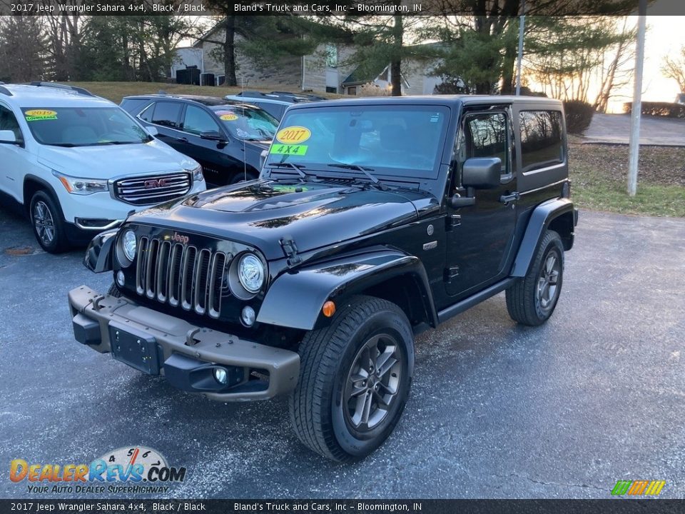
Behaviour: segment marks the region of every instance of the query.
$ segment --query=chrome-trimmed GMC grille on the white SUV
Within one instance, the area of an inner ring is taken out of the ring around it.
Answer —
[[[114,182],[114,197],[133,205],[173,200],[191,190],[190,173],[122,178]]]

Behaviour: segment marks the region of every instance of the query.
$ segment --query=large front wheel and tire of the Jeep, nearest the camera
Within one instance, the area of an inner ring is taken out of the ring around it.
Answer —
[[[369,455],[395,428],[411,386],[414,336],[405,313],[389,301],[356,296],[341,307],[330,326],[300,343],[290,421],[306,446],[344,462]]]

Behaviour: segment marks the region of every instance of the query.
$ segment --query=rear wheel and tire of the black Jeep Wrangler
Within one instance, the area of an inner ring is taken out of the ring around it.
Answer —
[[[509,316],[523,325],[542,325],[557,306],[563,278],[562,239],[558,233],[546,231],[527,275],[507,289]]]

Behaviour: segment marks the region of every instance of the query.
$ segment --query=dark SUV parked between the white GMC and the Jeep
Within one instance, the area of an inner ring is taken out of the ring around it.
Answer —
[[[260,153],[269,148],[278,121],[256,106],[213,96],[127,96],[121,106],[158,138],[201,163],[212,186],[254,180]]]

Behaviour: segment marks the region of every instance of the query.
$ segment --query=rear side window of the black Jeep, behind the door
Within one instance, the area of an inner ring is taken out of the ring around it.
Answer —
[[[559,111],[521,111],[522,171],[564,162],[562,114]]]

